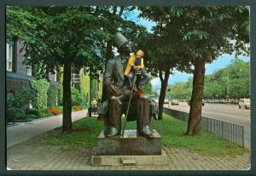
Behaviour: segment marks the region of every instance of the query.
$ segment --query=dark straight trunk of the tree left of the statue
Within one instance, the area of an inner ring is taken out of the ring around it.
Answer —
[[[62,133],[70,133],[72,131],[71,120],[71,65],[67,62],[64,64],[63,74],[63,121]]]

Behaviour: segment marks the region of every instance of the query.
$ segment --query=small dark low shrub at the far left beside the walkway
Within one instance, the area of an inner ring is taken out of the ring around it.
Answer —
[[[6,110],[6,117],[7,122],[26,119],[25,111],[15,107],[10,107]]]

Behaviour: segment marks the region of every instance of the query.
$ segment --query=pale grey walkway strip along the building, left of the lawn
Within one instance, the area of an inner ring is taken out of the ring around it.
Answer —
[[[72,121],[77,121],[87,116],[87,110],[72,113]],[[46,133],[54,128],[61,127],[62,115],[44,117],[32,122],[20,122],[18,125],[7,128],[7,148],[31,139],[41,133]]]

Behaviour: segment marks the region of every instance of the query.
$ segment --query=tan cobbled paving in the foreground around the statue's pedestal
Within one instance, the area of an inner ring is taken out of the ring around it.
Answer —
[[[166,166],[91,166],[96,149],[62,149],[60,146],[37,146],[32,140],[7,150],[7,166],[12,170],[247,170],[250,153],[239,156],[204,156],[183,147],[164,147]]]

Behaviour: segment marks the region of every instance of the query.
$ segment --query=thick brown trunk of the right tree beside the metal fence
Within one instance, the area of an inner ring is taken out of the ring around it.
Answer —
[[[193,90],[190,101],[189,122],[187,135],[199,135],[201,132],[201,106],[205,82],[205,60],[195,60],[195,71],[193,77]]]

